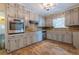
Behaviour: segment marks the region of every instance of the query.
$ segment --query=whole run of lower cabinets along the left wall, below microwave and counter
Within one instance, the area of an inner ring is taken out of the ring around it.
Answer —
[[[12,35],[8,37],[6,41],[7,52],[26,47],[32,43],[36,43],[42,40],[42,31],[26,32],[23,35]]]

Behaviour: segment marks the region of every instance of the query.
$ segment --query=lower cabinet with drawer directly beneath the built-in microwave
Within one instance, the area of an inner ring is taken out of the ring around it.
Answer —
[[[10,35],[7,40],[7,52],[12,52],[19,48],[24,47],[23,35]]]

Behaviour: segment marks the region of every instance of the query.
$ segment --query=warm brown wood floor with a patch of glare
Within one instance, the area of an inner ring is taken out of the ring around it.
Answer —
[[[11,55],[78,55],[79,49],[70,44],[44,40],[10,53]]]

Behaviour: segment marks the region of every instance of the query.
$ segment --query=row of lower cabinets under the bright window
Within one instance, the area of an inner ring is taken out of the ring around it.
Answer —
[[[67,31],[47,31],[47,38],[65,43],[72,43],[72,33]]]

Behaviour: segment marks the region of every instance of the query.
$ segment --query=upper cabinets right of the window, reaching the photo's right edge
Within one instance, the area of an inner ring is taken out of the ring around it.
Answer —
[[[79,26],[79,8],[74,8],[65,12],[66,26]]]

